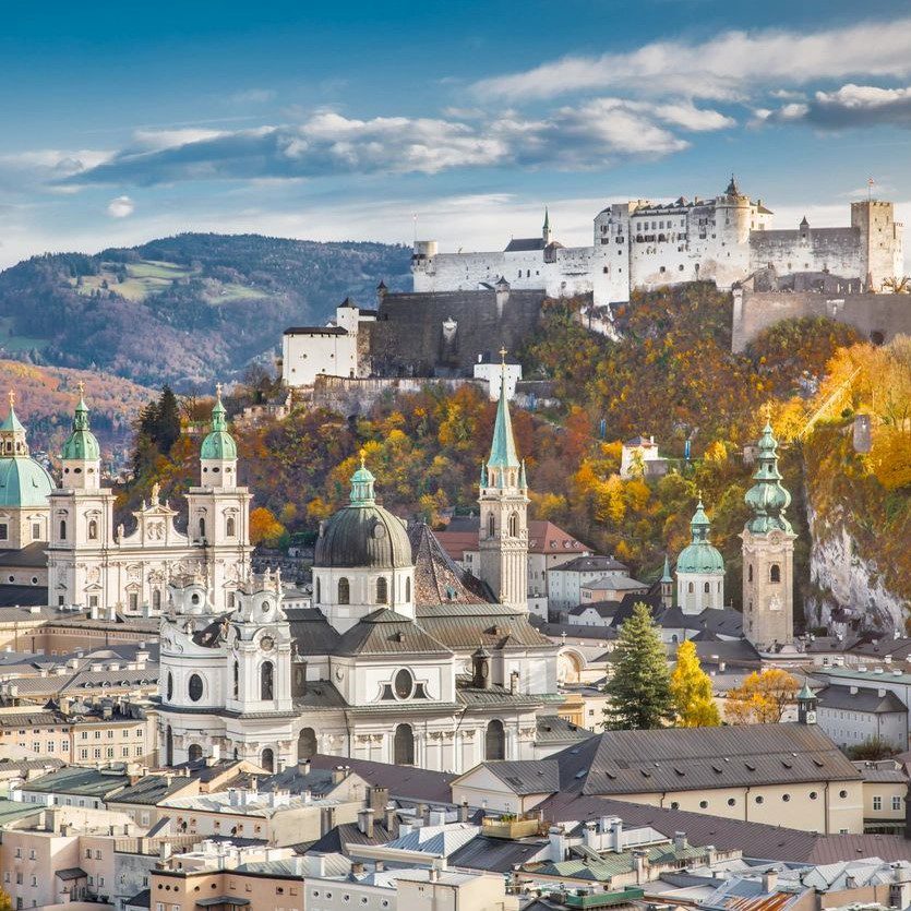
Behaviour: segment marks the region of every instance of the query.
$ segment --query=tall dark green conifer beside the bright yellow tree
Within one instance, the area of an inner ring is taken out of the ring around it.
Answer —
[[[604,727],[628,731],[660,728],[674,718],[668,656],[647,604],[639,602],[620,627],[613,676],[604,692]]]

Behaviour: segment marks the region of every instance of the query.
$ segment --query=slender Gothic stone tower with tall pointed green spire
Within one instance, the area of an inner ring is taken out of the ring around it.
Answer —
[[[501,351],[505,357],[505,351]],[[506,395],[505,363],[500,370],[500,401],[490,458],[481,466],[479,529],[480,577],[494,596],[516,610],[528,610],[528,484],[518,460]]]

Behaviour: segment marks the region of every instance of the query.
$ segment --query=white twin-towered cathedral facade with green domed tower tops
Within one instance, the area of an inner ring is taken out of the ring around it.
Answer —
[[[62,482],[48,496],[48,594],[52,604],[77,604],[93,616],[158,615],[168,583],[192,573],[205,579],[224,610],[250,562],[250,492],[238,484],[237,446],[228,432],[220,387],[209,433],[200,449],[200,486],[187,494],[188,534],[177,511],[151,502],[133,513],[136,527],[113,527],[115,493],[101,487],[100,449],[80,395],[73,429],[61,453]]]

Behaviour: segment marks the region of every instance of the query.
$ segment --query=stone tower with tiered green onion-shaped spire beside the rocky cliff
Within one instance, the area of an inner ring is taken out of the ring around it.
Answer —
[[[756,648],[770,650],[794,638],[794,538],[784,512],[791,494],[781,484],[778,441],[766,420],[758,442],[755,483],[746,492],[753,515],[743,541],[743,632]]]

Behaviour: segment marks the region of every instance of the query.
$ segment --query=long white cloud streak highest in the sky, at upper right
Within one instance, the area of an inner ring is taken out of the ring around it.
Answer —
[[[853,75],[911,74],[911,19],[815,33],[727,32],[706,41],[655,41],[627,53],[570,56],[475,84],[481,97],[553,98],[619,86],[694,98],[741,98],[756,85],[803,85]]]

